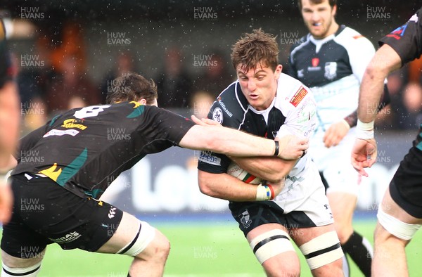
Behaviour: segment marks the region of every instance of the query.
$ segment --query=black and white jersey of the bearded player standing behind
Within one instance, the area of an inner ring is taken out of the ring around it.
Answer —
[[[307,34],[301,41],[290,52],[289,75],[312,90],[318,107],[316,131],[325,131],[357,109],[359,86],[375,49],[344,25],[324,39]]]

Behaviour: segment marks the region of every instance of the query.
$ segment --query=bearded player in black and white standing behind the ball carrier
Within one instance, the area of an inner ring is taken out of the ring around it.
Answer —
[[[375,49],[359,32],[338,25],[336,2],[298,0],[309,34],[290,51],[288,74],[309,86],[314,94],[317,124],[309,154],[327,187],[343,252],[365,276],[370,276],[372,246],[352,226],[360,178],[350,165],[350,150],[357,121],[359,85]],[[343,269],[348,276],[346,256]]]

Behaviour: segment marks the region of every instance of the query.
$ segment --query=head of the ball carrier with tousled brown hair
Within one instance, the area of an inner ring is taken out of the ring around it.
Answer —
[[[269,108],[276,96],[282,69],[276,38],[262,30],[253,30],[243,34],[232,50],[231,62],[243,95],[256,110]]]

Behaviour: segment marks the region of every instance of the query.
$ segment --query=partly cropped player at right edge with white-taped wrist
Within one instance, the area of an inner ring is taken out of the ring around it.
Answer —
[[[418,58],[422,53],[422,8],[409,21],[383,37],[362,79],[359,93],[357,139],[352,165],[368,176],[365,167],[376,162],[373,120],[388,74]],[[378,208],[374,235],[373,276],[409,276],[404,247],[422,224],[422,126],[409,153],[400,162],[395,176]]]

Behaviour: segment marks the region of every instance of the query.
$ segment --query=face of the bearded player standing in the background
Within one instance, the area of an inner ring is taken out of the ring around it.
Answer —
[[[302,0],[302,18],[306,27],[315,39],[324,39],[337,30],[334,15],[337,6],[331,8],[328,0],[321,4],[312,4],[309,0]]]

